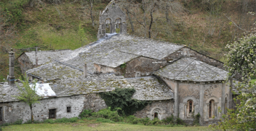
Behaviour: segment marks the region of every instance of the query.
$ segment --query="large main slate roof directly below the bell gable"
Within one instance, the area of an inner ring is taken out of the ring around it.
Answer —
[[[161,42],[125,34],[112,34],[110,37],[73,50],[56,59],[79,69],[83,69],[83,65],[86,63],[88,71],[94,72],[94,63],[109,67],[118,67],[124,62],[128,62],[138,56],[161,60],[182,47],[183,45],[170,42]],[[52,67],[49,68],[53,69]],[[35,72],[42,72],[42,74],[48,73],[48,71],[45,72],[40,68],[35,70]],[[28,73],[33,74],[31,71]],[[62,70],[58,70],[58,72],[62,72]],[[61,74],[64,74],[64,72]]]

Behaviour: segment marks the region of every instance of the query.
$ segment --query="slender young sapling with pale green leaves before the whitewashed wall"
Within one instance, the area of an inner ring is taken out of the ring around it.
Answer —
[[[19,79],[21,80],[21,77]],[[37,91],[36,80],[34,80],[32,87],[29,86],[29,81],[27,78],[25,79],[25,81],[21,81],[21,82],[23,86],[19,86],[17,84],[17,87],[19,89],[19,96],[14,96],[14,97],[16,97],[20,101],[26,102],[29,105],[30,111],[31,111],[31,122],[33,122],[34,119],[33,119],[33,113],[32,113],[32,104],[39,103],[38,100],[41,98],[36,94],[36,91]]]

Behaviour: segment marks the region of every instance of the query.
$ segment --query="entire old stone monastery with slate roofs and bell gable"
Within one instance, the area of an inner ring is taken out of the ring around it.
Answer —
[[[116,29],[120,33],[115,33]],[[106,34],[106,29],[110,34]],[[152,101],[134,115],[164,119],[173,114],[187,123],[201,114],[200,124],[216,123],[232,108],[231,81],[223,62],[185,45],[126,34],[125,13],[112,0],[100,13],[98,40],[76,50],[24,52],[22,73],[38,79],[40,103],[33,104],[36,121],[77,117],[83,109],[106,108],[99,92],[135,88],[134,99]],[[14,84],[14,52],[8,82],[0,83],[0,121],[28,121],[28,104],[18,101]],[[222,112],[218,113],[218,107]]]

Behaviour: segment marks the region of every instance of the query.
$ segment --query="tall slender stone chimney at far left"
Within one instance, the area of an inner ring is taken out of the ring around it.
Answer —
[[[11,51],[9,52],[9,84],[14,84],[14,54],[15,52]]]

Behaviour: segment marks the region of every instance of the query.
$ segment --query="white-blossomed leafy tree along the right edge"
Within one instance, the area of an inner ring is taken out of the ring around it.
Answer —
[[[230,51],[225,66],[229,71],[229,78],[239,74],[241,82],[235,84],[239,91],[234,98],[237,102],[236,109],[228,109],[227,115],[223,115],[223,121],[213,129],[256,131],[256,82],[250,82],[256,75],[256,34],[248,34],[232,44],[227,44],[227,48]]]

